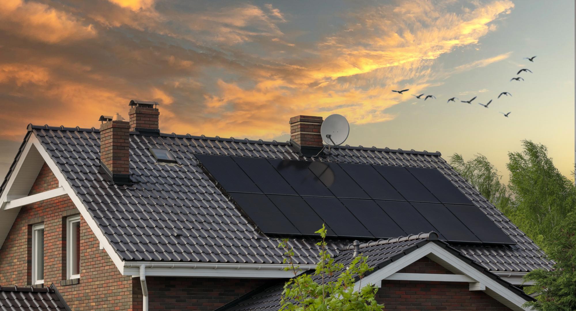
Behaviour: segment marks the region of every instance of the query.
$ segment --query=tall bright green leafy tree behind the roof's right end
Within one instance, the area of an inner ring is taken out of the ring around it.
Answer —
[[[524,150],[509,152],[509,188],[514,206],[503,212],[544,251],[555,227],[576,207],[576,188],[548,157],[544,145],[522,141]]]

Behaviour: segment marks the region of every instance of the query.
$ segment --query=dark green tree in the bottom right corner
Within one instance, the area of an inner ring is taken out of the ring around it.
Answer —
[[[538,301],[526,302],[541,311],[576,310],[576,212],[571,212],[547,238],[548,257],[554,261],[554,270],[538,269],[524,277],[535,282],[533,286],[542,294]]]

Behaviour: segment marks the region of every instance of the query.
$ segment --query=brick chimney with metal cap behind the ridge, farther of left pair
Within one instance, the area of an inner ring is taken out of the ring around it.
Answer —
[[[156,101],[130,101],[130,131],[160,133],[158,127],[158,103]]]

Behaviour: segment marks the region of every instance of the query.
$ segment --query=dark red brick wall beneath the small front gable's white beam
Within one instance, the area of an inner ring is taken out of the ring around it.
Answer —
[[[469,291],[465,282],[382,280],[376,301],[385,310],[510,310],[483,291]]]

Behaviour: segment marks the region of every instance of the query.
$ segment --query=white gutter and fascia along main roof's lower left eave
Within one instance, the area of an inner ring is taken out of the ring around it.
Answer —
[[[211,278],[292,278],[294,272],[285,271],[286,264],[232,264],[232,263],[124,263],[123,275],[139,276],[139,268],[146,267],[150,276],[195,276]],[[298,274],[316,268],[314,264],[300,265]]]

